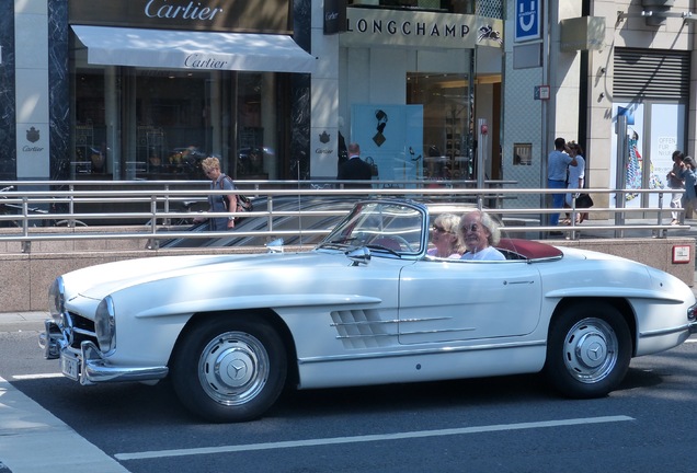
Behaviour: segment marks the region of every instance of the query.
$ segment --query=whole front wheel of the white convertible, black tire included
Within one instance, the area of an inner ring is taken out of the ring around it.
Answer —
[[[268,324],[239,316],[204,320],[175,347],[174,391],[193,413],[215,423],[260,417],[278,399],[287,355]]]

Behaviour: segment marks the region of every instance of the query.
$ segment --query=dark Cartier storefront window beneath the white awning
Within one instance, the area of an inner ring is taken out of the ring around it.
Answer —
[[[71,178],[203,180],[208,155],[235,178],[277,178],[276,90],[287,74],[72,59]]]

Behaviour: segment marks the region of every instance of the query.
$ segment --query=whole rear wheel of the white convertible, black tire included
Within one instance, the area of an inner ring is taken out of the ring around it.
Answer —
[[[631,334],[617,309],[573,305],[550,325],[544,372],[568,397],[603,397],[621,383],[631,353]]]

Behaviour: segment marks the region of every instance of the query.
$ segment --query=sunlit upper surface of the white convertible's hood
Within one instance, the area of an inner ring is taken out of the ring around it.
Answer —
[[[101,300],[107,295],[130,287],[181,277],[215,278],[216,275],[245,275],[250,272],[281,272],[287,267],[346,266],[340,253],[263,253],[244,255],[155,256],[91,266],[64,275],[67,289]]]

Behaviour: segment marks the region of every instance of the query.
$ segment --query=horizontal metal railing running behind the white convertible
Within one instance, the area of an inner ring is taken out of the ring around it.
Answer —
[[[331,217],[341,216],[346,210],[298,210],[274,209],[274,203],[282,198],[297,198],[299,203],[307,197],[338,198],[347,197],[359,199],[364,197],[400,197],[432,203],[469,204],[478,208],[488,208],[495,212],[506,223],[505,230],[510,234],[538,232],[542,238],[549,232],[564,231],[569,239],[579,238],[580,231],[612,231],[614,238],[622,238],[630,230],[651,231],[653,238],[665,238],[667,230],[687,230],[689,226],[672,226],[663,223],[670,218],[671,211],[683,209],[663,208],[665,194],[674,189],[584,189],[594,196],[595,201],[625,201],[626,194],[658,195],[658,207],[599,207],[561,209],[570,214],[569,227],[552,227],[545,221],[550,214],[558,214],[552,208],[523,208],[516,204],[519,197],[533,195],[558,194],[559,189],[547,188],[506,188],[514,182],[487,181],[487,188],[475,188],[472,181],[391,181],[372,183],[370,188],[343,189],[342,183],[336,181],[241,181],[236,183],[235,193],[265,199],[264,208],[255,208],[245,212],[244,217],[265,218],[267,224],[264,230],[233,230],[236,236],[297,236],[322,235],[327,229],[277,229],[274,228],[276,217]],[[0,229],[0,242],[20,241],[24,252],[31,251],[31,243],[36,241],[60,240],[103,240],[103,239],[149,239],[155,242],[150,247],[156,249],[157,242],[170,239],[208,239],[220,238],[220,232],[202,231],[190,232],[181,226],[171,222],[193,217],[190,211],[178,209],[183,203],[199,203],[205,205],[207,196],[213,194],[226,195],[230,192],[209,191],[208,182],[181,181],[150,181],[150,182],[11,182],[0,183],[0,187],[11,186],[9,191],[0,193],[0,207],[12,206],[15,214],[0,215],[0,226],[15,228]],[[42,188],[45,187],[45,188]],[[100,188],[101,187],[101,188]],[[336,188],[340,187],[340,188]],[[55,191],[60,188],[60,191]],[[103,211],[106,206],[135,206],[133,211]],[[80,208],[92,207],[90,211],[78,211]],[[56,210],[59,209],[59,210]],[[100,211],[102,210],[102,211]],[[575,216],[580,212],[590,215],[582,226],[575,223]],[[201,212],[202,217],[228,217],[228,212]],[[637,217],[638,216],[638,217]],[[647,217],[648,216],[648,217]],[[128,220],[135,224],[110,226],[108,222]],[[64,222],[68,230],[55,227],[56,222]],[[100,231],[95,231],[93,222],[100,222]],[[80,223],[80,224],[78,224]],[[82,224],[84,223],[84,226]]]

